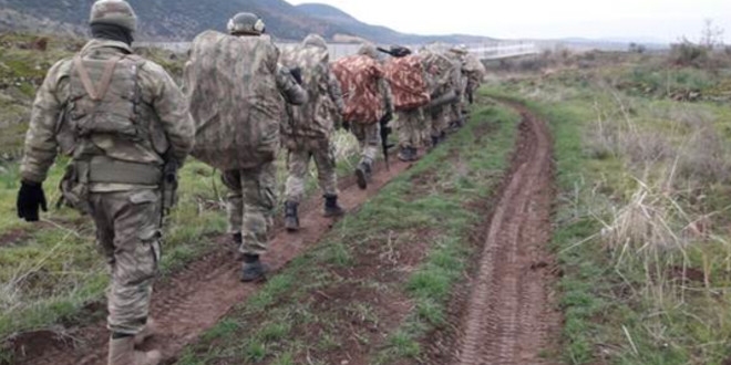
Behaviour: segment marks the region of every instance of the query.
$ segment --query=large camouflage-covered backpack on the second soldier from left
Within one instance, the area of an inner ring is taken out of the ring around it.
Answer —
[[[268,38],[216,31],[196,36],[185,66],[194,157],[222,170],[275,159],[285,104],[276,82],[278,59]]]

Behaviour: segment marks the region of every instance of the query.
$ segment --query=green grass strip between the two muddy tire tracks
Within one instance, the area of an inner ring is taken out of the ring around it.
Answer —
[[[445,305],[474,253],[469,234],[485,219],[482,210],[467,207],[494,194],[518,119],[508,109],[480,106],[467,127],[344,217],[321,243],[188,347],[181,364],[290,364],[305,357],[327,364],[327,354],[347,352],[352,342],[370,348],[363,354],[370,363],[419,358],[419,341],[445,323]],[[476,140],[476,128],[490,131]],[[430,233],[420,234],[424,230]],[[405,268],[399,263],[389,269],[389,254],[414,244],[425,251],[410,274],[401,274]],[[364,273],[352,277],[354,271]],[[363,293],[357,295],[361,300],[348,299],[356,293]],[[410,310],[393,322],[380,301],[410,303]],[[248,331],[228,335],[222,326],[231,322]],[[266,354],[251,357],[250,350]]]

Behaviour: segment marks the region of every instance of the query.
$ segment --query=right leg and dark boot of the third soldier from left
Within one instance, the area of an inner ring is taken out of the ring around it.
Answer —
[[[336,171],[336,146],[330,139],[323,139],[312,152],[317,165],[317,177],[325,197],[325,216],[342,216],[344,210],[338,205],[338,174]]]

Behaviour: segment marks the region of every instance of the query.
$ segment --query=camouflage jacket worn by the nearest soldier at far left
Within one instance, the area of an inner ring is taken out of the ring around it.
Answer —
[[[83,60],[109,60],[132,54],[121,42],[91,40],[79,53]],[[194,126],[187,102],[175,82],[159,65],[140,58],[137,92],[144,105],[137,115],[151,128],[146,140],[122,140],[113,135],[92,135],[79,138],[70,125],[71,82],[75,72],[73,59],[59,61],[48,72],[35,95],[25,135],[25,153],[21,164],[23,180],[41,182],[59,152],[68,156],[104,155],[114,160],[162,166],[163,155],[178,164],[193,148]],[[114,85],[110,86],[113,90]],[[153,140],[154,139],[154,140]],[[92,191],[121,191],[136,186],[125,184],[94,184]]]

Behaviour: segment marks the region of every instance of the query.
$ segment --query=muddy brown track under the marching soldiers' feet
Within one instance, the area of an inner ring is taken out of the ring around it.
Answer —
[[[339,195],[340,205],[351,212],[411,165],[395,158],[391,161],[390,169],[380,164],[367,190],[358,188],[354,179],[346,178]],[[320,200],[321,198],[316,196],[302,206],[302,228],[299,232],[291,234],[279,227],[274,233],[270,250],[264,257],[264,261],[274,271],[272,274],[317,243],[332,227],[333,220],[322,217]],[[225,242],[225,239],[218,241]],[[239,281],[239,268],[240,262],[222,247],[219,251],[191,263],[169,282],[156,288],[151,316],[157,322],[158,334],[145,344],[145,348],[159,350],[164,364],[174,363],[187,344],[195,342],[202,333],[214,326],[234,305],[245,302],[256,293],[259,285]],[[17,359],[14,364],[106,364],[109,332],[105,323],[81,328],[73,334],[73,338],[76,346],[69,343],[33,346],[29,352],[23,351],[23,358]]]

